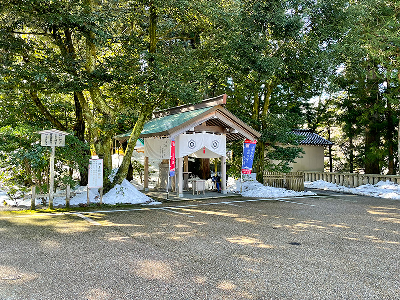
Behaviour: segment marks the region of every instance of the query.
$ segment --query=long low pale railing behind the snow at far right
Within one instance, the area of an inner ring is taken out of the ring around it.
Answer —
[[[373,174],[351,174],[351,173],[327,173],[304,171],[304,181],[323,180],[345,187],[357,187],[364,184],[376,184],[379,181],[391,181],[400,183],[400,176],[395,175],[373,175]]]

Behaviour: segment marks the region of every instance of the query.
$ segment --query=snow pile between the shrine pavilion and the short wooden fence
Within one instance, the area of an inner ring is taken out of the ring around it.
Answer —
[[[298,197],[298,196],[309,196],[316,195],[311,191],[293,191],[284,188],[277,188],[271,186],[264,186],[259,183],[256,179],[256,174],[243,176],[242,193],[243,197],[252,198],[283,198],[283,197]],[[234,178],[228,178],[228,190],[229,192],[240,193],[240,179],[235,180]]]

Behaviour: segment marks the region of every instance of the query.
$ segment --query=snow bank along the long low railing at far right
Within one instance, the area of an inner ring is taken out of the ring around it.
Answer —
[[[331,190],[353,195],[400,200],[400,185],[388,180],[379,181],[376,184],[365,184],[358,187],[345,187],[318,180],[313,182],[304,182],[304,186],[307,188]]]

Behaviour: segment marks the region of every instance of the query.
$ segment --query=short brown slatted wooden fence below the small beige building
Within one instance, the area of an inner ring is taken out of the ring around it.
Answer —
[[[264,185],[284,188],[295,191],[304,190],[303,172],[264,172]]]

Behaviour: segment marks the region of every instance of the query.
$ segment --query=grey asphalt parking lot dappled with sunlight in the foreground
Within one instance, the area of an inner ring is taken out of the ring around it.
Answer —
[[[400,299],[395,200],[324,192],[0,212],[0,244],[1,278],[22,276],[0,280],[7,300]]]

